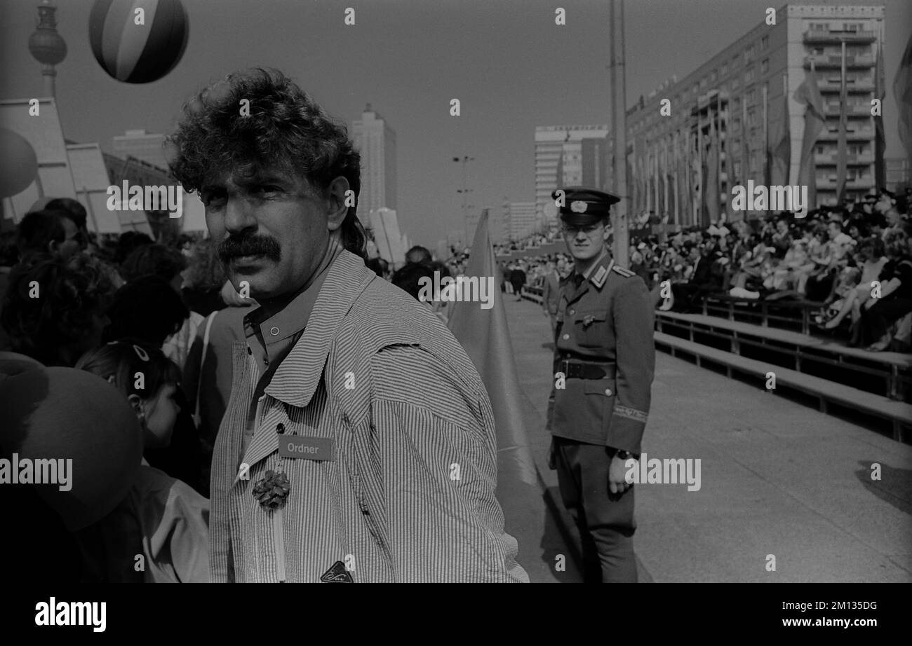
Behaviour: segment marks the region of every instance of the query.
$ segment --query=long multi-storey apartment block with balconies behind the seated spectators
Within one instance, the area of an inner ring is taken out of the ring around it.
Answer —
[[[774,25],[762,20],[687,77],[640,97],[627,110],[631,215],[655,211],[678,225],[706,225],[723,213],[741,219],[731,212],[731,190],[748,180],[795,186],[803,178],[816,205],[835,203],[837,186],[849,198],[874,190],[884,172],[871,115],[884,87],[883,44],[883,6],[784,5]],[[812,78],[825,122],[803,167],[798,89]]]

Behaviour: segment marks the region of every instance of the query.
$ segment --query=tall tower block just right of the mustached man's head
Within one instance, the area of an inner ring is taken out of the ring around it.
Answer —
[[[396,131],[369,103],[352,131],[361,153],[358,214],[367,218],[372,210],[396,209]]]

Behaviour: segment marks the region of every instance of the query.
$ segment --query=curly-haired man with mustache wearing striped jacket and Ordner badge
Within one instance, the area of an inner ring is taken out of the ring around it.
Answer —
[[[365,266],[346,129],[256,69],[192,99],[168,149],[233,286],[259,303],[215,442],[212,580],[528,580],[494,497],[481,379]]]

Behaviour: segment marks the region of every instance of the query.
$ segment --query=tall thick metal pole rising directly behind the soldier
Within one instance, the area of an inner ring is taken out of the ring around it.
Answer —
[[[624,74],[624,0],[610,0],[611,10],[611,129],[615,133],[615,190],[621,199],[614,211],[614,257],[617,264],[627,266],[629,236],[627,213],[629,191],[627,190],[627,86]],[[620,5],[615,13],[615,4]]]

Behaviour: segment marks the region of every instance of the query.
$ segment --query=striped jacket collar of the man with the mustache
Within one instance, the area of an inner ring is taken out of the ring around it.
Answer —
[[[368,283],[379,280],[351,251],[341,251],[326,271],[326,280],[301,338],[276,369],[266,395],[285,404],[310,403],[323,376],[329,346],[342,317],[351,309]]]

